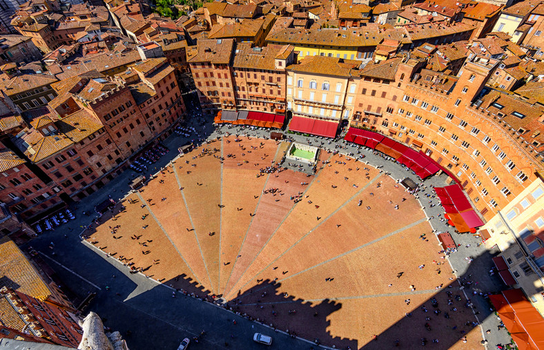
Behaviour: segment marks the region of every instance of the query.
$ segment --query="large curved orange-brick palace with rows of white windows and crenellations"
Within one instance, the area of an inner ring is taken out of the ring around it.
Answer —
[[[388,61],[395,66],[395,60]],[[385,96],[380,105],[386,110],[382,115],[358,110],[353,124],[430,155],[458,178],[489,219],[536,177],[543,141],[536,120],[544,108],[485,87],[498,61],[473,57],[457,76],[421,65],[414,59],[399,63],[389,84],[361,79],[358,93],[376,90],[376,96]],[[358,100],[363,108],[370,104]]]

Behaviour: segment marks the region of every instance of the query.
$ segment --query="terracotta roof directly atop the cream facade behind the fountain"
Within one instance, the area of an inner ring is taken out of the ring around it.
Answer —
[[[327,56],[305,57],[300,64],[287,66],[287,70],[293,72],[312,73],[320,75],[331,75],[336,77],[353,77],[357,75],[357,68],[360,61],[340,59]]]

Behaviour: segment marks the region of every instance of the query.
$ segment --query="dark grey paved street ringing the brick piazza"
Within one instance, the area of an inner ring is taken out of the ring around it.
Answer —
[[[192,125],[197,130],[202,130],[200,122],[203,119],[191,119]],[[206,137],[216,137],[229,131],[235,133],[239,128],[229,128],[224,126],[217,131],[213,126],[206,123]],[[253,136],[267,137],[269,131],[250,130],[245,128],[244,133]],[[418,177],[408,171],[406,168],[389,162],[384,157],[374,154],[371,150],[359,150],[351,145],[345,148],[338,148],[343,142],[335,144],[328,139],[302,137],[300,135],[290,135],[297,142],[309,143],[318,146],[324,146],[329,149],[340,150],[342,153],[358,153],[365,155],[365,162],[373,166],[382,166],[382,170],[391,173],[395,179],[411,177],[417,180]],[[195,138],[191,135],[189,139]],[[187,141],[184,137],[173,135],[163,142],[171,152],[162,157],[157,162],[156,168],[149,168],[150,173],[155,173],[160,167],[166,165],[177,155],[177,147]],[[66,286],[79,298],[84,298],[89,292],[97,293],[97,297],[90,304],[88,310],[96,311],[101,315],[106,326],[113,330],[119,330],[124,334],[130,349],[176,349],[177,344],[185,338],[192,338],[206,330],[206,336],[198,343],[191,344],[191,349],[258,349],[251,338],[255,331],[273,335],[274,342],[270,349],[311,349],[312,344],[303,340],[292,339],[283,333],[274,333],[273,330],[264,327],[256,322],[250,322],[240,318],[229,311],[217,307],[208,302],[202,302],[196,298],[177,294],[172,297],[173,291],[168,286],[157,284],[157,282],[145,278],[140,274],[130,274],[122,264],[112,258],[106,257],[104,253],[99,252],[94,246],[81,242],[79,233],[80,226],[87,225],[91,217],[82,215],[83,211],[93,211],[95,204],[105,200],[108,195],[115,199],[123,197],[129,190],[128,182],[136,177],[133,171],[125,171],[122,175],[116,177],[108,183],[101,191],[93,193],[75,209],[77,220],[73,220],[64,226],[60,226],[56,231],[40,235],[32,240],[26,246],[32,246],[41,252],[43,260],[55,270],[59,278]],[[443,177],[431,177],[424,184],[427,186],[443,186],[445,181]],[[422,198],[422,205],[427,206],[425,212],[427,217],[434,216],[431,224],[437,231],[451,231],[451,227],[445,226],[438,220],[438,214],[443,212],[441,206],[436,205],[429,208],[428,203]],[[435,200],[438,204],[438,200]],[[64,237],[67,235],[67,237]],[[482,257],[476,259],[470,266],[472,280],[479,282],[476,291],[499,291],[504,286],[501,282],[489,278],[487,271],[492,266],[491,255],[485,253],[483,246],[477,247],[477,240],[472,235],[456,235],[454,240],[463,245],[458,253],[453,253],[449,257],[454,269],[458,275],[467,272],[469,266],[464,260],[467,254]],[[54,242],[55,248],[49,249],[50,242]],[[471,244],[467,249],[465,244]],[[23,246],[24,249],[24,246]],[[54,253],[54,255],[53,255]],[[113,277],[115,275],[115,278]],[[108,289],[106,289],[108,286]],[[472,293],[470,289],[468,293]],[[118,294],[117,294],[118,293]],[[480,312],[480,320],[483,320],[483,328],[491,329],[492,333],[486,335],[489,344],[505,343],[509,337],[505,331],[498,332],[498,324],[494,315],[489,314],[487,302],[479,295],[473,298],[476,305],[476,312]],[[487,312],[486,312],[487,311]],[[477,315],[478,316],[478,315]],[[236,324],[233,323],[236,320]],[[130,330],[130,336],[126,331]],[[231,338],[232,337],[232,338]],[[227,342],[228,344],[226,344]],[[315,347],[315,346],[313,346]]]

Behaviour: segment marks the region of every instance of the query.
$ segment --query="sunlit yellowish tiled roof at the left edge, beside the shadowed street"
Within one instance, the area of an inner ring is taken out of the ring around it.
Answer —
[[[5,282],[9,281],[6,286],[21,293],[39,300],[46,300],[51,295],[34,266],[9,237],[0,238],[0,275],[5,277]]]

